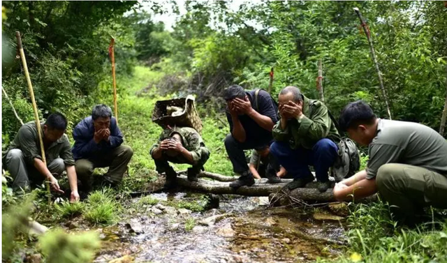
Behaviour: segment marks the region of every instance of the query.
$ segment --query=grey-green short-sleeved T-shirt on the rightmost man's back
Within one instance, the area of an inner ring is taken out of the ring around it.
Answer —
[[[369,144],[368,176],[385,163],[425,167],[447,176],[447,141],[432,128],[406,121],[379,119]]]

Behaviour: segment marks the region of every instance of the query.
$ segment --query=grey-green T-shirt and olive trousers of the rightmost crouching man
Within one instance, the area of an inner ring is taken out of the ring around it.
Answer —
[[[367,179],[398,219],[411,223],[424,206],[447,208],[447,141],[419,123],[379,119],[369,144]]]

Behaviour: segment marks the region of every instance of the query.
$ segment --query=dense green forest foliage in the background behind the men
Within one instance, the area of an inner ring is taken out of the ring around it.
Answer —
[[[186,1],[145,3],[152,13],[173,7],[177,22],[167,31],[133,1],[5,1],[3,87],[19,115],[32,119],[15,31],[22,33],[38,106],[45,116],[59,110],[71,125],[94,102],[110,102],[110,37],[116,38],[117,74],[131,75],[135,63],[166,73],[147,79],[163,93],[196,93],[207,107],[222,110],[219,93],[229,84],[272,93],[296,85],[311,98],[317,61],[323,61],[323,87],[336,114],[363,99],[386,117],[379,81],[365,33],[354,7],[367,20],[390,100],[393,119],[439,128],[446,93],[447,13],[441,1]],[[125,14],[125,15],[124,15]],[[118,92],[124,96],[124,92]],[[20,123],[3,103],[3,137]]]

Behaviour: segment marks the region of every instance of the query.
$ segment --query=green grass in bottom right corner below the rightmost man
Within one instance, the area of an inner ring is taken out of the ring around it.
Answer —
[[[386,206],[378,202],[357,205],[348,227],[344,255],[320,262],[447,262],[446,221],[416,229],[397,227]]]

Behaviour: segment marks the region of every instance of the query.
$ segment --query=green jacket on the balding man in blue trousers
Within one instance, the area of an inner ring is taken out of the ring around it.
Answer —
[[[288,142],[291,149],[312,149],[316,142],[323,138],[339,142],[340,136],[329,117],[328,107],[318,100],[309,100],[304,95],[302,97],[302,114],[305,117],[300,120],[288,120],[286,130],[281,130],[279,120],[272,130],[274,140]]]

